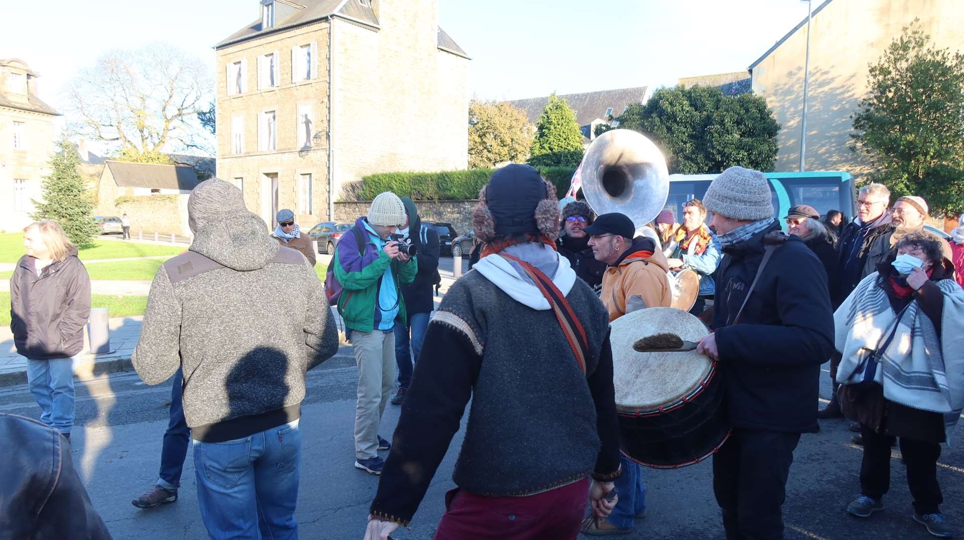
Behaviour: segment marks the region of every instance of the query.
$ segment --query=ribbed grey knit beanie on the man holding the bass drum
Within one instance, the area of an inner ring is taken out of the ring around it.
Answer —
[[[766,176],[760,171],[731,167],[716,176],[703,204],[724,217],[758,221],[773,217],[773,200]]]

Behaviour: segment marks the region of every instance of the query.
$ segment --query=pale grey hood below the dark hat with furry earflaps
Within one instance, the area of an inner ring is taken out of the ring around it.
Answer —
[[[568,295],[569,291],[573,289],[573,285],[576,284],[576,271],[569,265],[569,259],[560,257],[555,250],[548,246],[529,243],[511,246],[506,249],[506,252],[529,262],[540,270],[549,268],[554,262],[555,272],[550,278],[563,295]],[[472,269],[477,270],[485,279],[502,289],[502,292],[508,294],[516,302],[538,311],[546,311],[551,308],[549,300],[546,300],[539,287],[532,283],[529,277],[525,275],[522,267],[514,261],[495,254],[480,258],[472,266]]]

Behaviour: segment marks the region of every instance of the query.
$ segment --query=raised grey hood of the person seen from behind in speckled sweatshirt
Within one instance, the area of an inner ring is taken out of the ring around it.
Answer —
[[[281,248],[264,221],[245,207],[241,190],[220,178],[194,188],[187,212],[194,232],[189,249],[233,270],[263,268]]]

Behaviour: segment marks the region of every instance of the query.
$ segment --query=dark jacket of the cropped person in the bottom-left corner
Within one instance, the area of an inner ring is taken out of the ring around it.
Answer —
[[[73,469],[70,446],[37,420],[0,413],[0,537],[111,538]]]

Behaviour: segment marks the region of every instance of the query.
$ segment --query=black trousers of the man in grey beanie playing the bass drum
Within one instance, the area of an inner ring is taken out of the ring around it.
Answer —
[[[734,429],[713,454],[713,494],[727,540],[780,540],[799,433]]]

